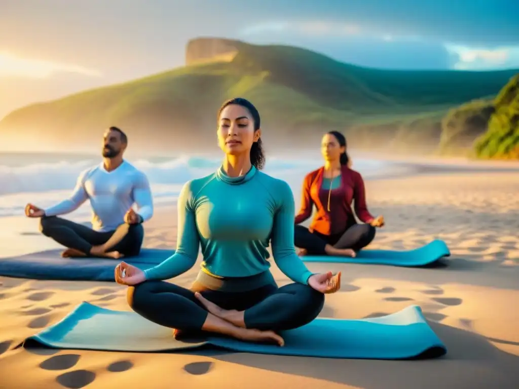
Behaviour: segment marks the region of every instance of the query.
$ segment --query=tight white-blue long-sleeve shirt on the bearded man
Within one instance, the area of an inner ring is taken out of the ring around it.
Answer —
[[[114,231],[124,223],[126,212],[137,205],[143,221],[153,216],[152,192],[146,175],[123,161],[108,172],[103,163],[82,172],[72,196],[45,210],[46,216],[58,216],[78,209],[85,201],[92,206],[92,228],[95,231]]]

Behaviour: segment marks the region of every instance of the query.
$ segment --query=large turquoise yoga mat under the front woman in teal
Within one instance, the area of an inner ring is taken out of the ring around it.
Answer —
[[[196,341],[176,340],[170,328],[134,312],[112,311],[84,302],[59,323],[26,339],[23,345],[126,352],[182,352],[213,346],[257,354],[350,359],[432,358],[446,353],[445,345],[417,305],[361,320],[317,318],[280,335],[285,340],[283,347],[209,334]]]

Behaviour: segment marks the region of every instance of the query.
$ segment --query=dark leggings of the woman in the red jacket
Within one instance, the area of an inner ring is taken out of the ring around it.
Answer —
[[[294,245],[305,248],[310,255],[326,255],[327,244],[335,248],[351,248],[359,252],[375,238],[375,227],[369,224],[354,224],[341,234],[324,235],[297,225],[294,228]]]

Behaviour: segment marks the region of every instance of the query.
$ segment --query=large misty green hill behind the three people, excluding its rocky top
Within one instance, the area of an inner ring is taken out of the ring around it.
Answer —
[[[0,121],[0,133],[24,131],[35,142],[43,136],[60,143],[91,142],[102,128],[116,125],[132,141],[151,147],[214,148],[216,109],[225,99],[242,96],[260,110],[269,139],[308,143],[338,129],[357,147],[390,142],[395,148],[435,149],[450,108],[497,94],[517,73],[385,71],[296,47],[234,45],[236,54],[227,61],[18,109]]]

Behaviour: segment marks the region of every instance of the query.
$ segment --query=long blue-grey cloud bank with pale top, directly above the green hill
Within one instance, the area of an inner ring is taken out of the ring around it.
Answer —
[[[305,47],[359,66],[393,70],[448,69],[453,63],[443,43],[418,34],[395,34],[385,25],[342,22],[258,23],[240,38],[255,44]],[[457,55],[454,55],[457,59]]]

